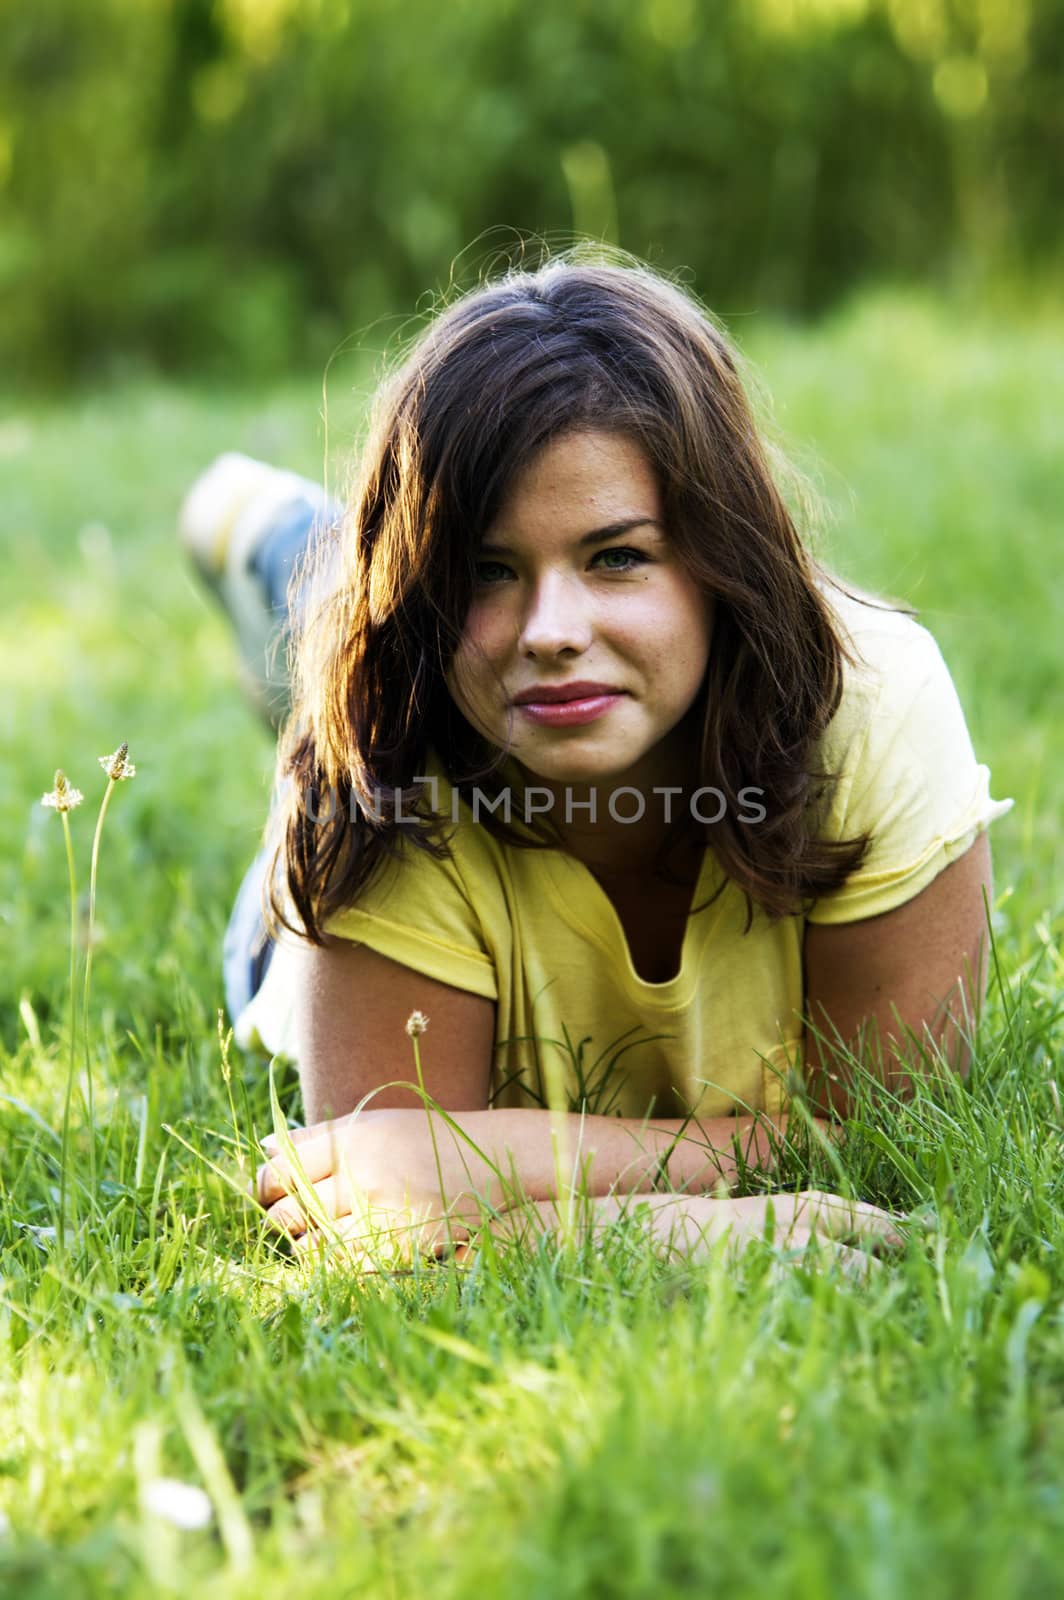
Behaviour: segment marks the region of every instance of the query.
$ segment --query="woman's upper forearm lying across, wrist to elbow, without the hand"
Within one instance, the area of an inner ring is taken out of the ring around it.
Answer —
[[[646,1194],[670,1187],[690,1194],[731,1189],[741,1162],[773,1171],[786,1117],[654,1118],[582,1117],[539,1109],[456,1112],[454,1136],[437,1120],[437,1138],[453,1139],[469,1187],[494,1203],[510,1190],[552,1200],[578,1189],[589,1195]]]

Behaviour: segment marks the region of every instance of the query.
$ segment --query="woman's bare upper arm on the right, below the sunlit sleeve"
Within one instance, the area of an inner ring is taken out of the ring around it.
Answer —
[[[965,1032],[986,994],[992,896],[990,843],[979,834],[907,906],[843,926],[806,925],[805,1077],[818,1110],[845,1117],[851,1106],[838,1040],[901,1094],[925,1070],[917,1043],[928,1037],[957,1072],[968,1070]]]

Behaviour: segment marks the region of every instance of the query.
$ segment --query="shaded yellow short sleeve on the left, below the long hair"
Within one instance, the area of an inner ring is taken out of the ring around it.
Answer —
[[[333,917],[326,931],[426,978],[494,1000],[494,962],[466,877],[453,856],[437,858],[408,845],[386,862],[357,906]]]

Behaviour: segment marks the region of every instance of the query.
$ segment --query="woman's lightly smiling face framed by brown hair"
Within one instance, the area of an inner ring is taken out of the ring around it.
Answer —
[[[517,478],[478,554],[448,690],[544,782],[664,782],[709,659],[710,605],[662,526],[638,445],[565,434]]]

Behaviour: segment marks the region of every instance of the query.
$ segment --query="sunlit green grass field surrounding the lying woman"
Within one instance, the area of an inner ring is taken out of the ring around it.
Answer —
[[[334,366],[328,445],[314,378],[8,395],[0,1594],[1064,1587],[1064,318],[880,296],[736,331],[830,509],[826,554],[920,610],[1016,798],[970,1086],[885,1110],[843,1154],[862,1197],[925,1230],[867,1286],[768,1253],[664,1266],[635,1226],[594,1254],[365,1280],[266,1242],[227,1181],[270,1114],[262,1062],[222,1070],[218,947],[270,747],[173,523],[222,448],[341,470],[366,370]],[[99,866],[94,1133],[78,1058],[64,1182],[67,862],[38,802],[58,765],[86,792],[83,944],[96,758],[122,739],[138,776]],[[818,1162],[794,1179],[829,1186]],[[171,1478],[206,1491],[203,1526],[178,1526]]]

